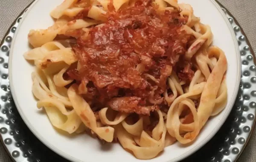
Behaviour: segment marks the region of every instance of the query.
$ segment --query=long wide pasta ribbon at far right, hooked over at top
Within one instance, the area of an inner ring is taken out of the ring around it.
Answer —
[[[212,113],[213,115],[215,115],[216,113],[221,111],[221,108],[219,108],[218,106],[218,108],[216,108],[216,110],[214,111],[218,92],[221,96],[221,99],[217,101],[224,101],[226,96],[225,86],[223,86],[223,90],[220,90],[221,83],[225,81],[225,79],[223,79],[224,73],[227,71],[226,56],[224,55],[224,52],[220,48],[215,46],[209,47],[208,54],[209,56],[215,56],[215,58],[218,58],[218,61],[215,64],[212,73],[209,75],[209,78],[207,79],[207,82],[204,87],[204,91],[201,94],[200,104],[198,106],[197,112],[199,118],[199,129],[201,129],[204,126],[204,124],[207,122],[208,118],[212,115]],[[195,123],[193,122],[190,124],[181,124],[180,128],[183,130],[191,131],[195,129]],[[198,134],[188,134],[187,137],[189,138],[190,136],[197,135]]]

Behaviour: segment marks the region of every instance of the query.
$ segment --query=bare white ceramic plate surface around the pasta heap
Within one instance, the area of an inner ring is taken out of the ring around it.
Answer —
[[[119,144],[102,146],[98,140],[87,134],[71,136],[56,131],[49,122],[47,115],[36,108],[36,101],[32,95],[31,73],[34,67],[24,58],[23,53],[30,50],[27,34],[30,29],[47,28],[53,24],[49,16],[55,6],[63,0],[36,0],[24,15],[17,28],[9,56],[9,80],[12,95],[30,130],[50,149],[57,154],[74,162],[139,162],[133,155],[125,151]],[[210,119],[204,126],[196,141],[189,146],[182,146],[178,142],[164,149],[160,156],[148,162],[175,162],[197,151],[208,142],[222,126],[229,115],[239,88],[241,60],[236,36],[221,8],[214,0],[179,0],[179,3],[192,5],[195,15],[201,17],[201,22],[208,24],[214,34],[213,45],[224,50],[227,61],[227,106],[219,115]]]

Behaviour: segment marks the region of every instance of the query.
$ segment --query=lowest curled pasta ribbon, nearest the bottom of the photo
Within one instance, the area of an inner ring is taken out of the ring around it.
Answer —
[[[163,151],[166,127],[164,126],[163,134],[159,141],[154,140],[145,131],[143,131],[140,141],[138,141],[140,142],[141,147],[136,145],[133,136],[129,134],[121,124],[116,126],[116,136],[122,147],[132,151],[138,159],[152,159]]]

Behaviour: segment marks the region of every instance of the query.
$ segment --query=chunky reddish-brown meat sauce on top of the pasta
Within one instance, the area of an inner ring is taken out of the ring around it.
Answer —
[[[73,50],[79,69],[74,65],[67,74],[87,87],[84,98],[93,105],[149,115],[167,106],[163,92],[172,70],[180,80],[192,78],[191,64],[183,55],[195,37],[180,30],[187,18],[180,17],[179,11],[159,12],[157,7],[137,1],[114,12],[110,3],[105,24],[77,38]],[[84,14],[86,10],[79,17],[85,18]]]

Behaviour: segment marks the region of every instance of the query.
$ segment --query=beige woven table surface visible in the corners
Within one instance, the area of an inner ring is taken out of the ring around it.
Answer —
[[[33,0],[0,0],[0,41],[9,26]],[[256,51],[256,0],[219,0],[244,29],[253,50]],[[0,144],[0,162],[12,162]],[[256,162],[256,131],[240,156],[238,162]]]

